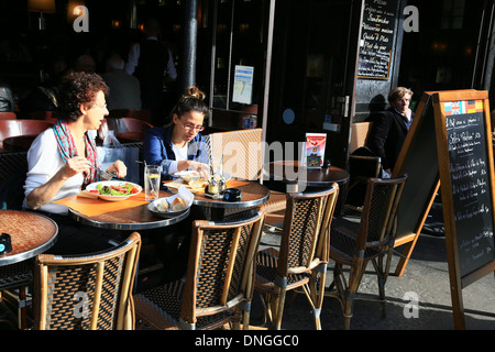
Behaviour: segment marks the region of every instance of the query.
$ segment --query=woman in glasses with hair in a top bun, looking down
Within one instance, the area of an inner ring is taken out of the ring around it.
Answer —
[[[172,110],[172,123],[148,130],[143,141],[143,158],[150,165],[162,165],[163,179],[184,169],[197,170],[207,179],[208,154],[202,135],[199,134],[208,116],[205,94],[189,88]]]

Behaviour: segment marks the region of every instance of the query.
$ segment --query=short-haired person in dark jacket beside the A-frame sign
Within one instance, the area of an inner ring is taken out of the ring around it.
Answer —
[[[410,89],[397,87],[388,94],[391,107],[366,119],[373,122],[366,146],[382,158],[383,177],[391,177],[413,121],[414,114],[409,109],[411,97]]]

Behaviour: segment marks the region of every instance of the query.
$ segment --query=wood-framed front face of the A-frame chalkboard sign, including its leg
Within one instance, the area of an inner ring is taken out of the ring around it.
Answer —
[[[495,271],[488,92],[435,92],[433,109],[454,324],[463,329],[462,288]]]

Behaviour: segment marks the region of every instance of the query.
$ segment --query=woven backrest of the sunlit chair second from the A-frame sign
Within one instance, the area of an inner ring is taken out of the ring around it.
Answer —
[[[330,226],[338,194],[337,184],[318,193],[287,194],[277,263],[280,278],[328,263]]]

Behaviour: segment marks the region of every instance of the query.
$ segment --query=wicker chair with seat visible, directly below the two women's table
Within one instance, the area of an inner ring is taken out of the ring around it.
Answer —
[[[185,278],[134,295],[136,318],[162,330],[249,328],[264,211],[239,222],[195,221]]]

